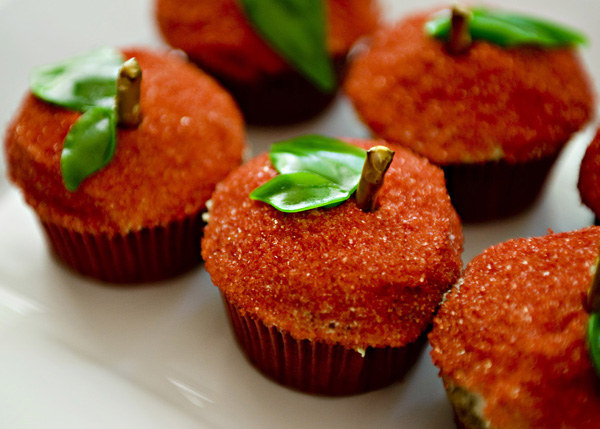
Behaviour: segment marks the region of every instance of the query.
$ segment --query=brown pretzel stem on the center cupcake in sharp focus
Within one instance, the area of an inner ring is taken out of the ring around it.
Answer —
[[[356,204],[371,212],[377,206],[377,194],[383,186],[385,172],[390,167],[394,151],[385,146],[375,146],[367,151],[367,158],[356,189]]]

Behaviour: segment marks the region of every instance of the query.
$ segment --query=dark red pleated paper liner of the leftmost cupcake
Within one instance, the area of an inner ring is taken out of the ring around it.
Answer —
[[[79,233],[42,222],[52,252],[78,273],[111,283],[154,282],[201,262],[200,215],[126,235]]]

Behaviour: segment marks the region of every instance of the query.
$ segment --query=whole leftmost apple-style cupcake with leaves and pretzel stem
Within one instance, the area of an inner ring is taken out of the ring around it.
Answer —
[[[104,123],[114,121],[110,79],[118,65],[114,69],[106,58],[114,63],[115,56],[118,63],[134,57],[142,70],[133,106],[139,123],[107,127],[113,138],[106,147],[85,152],[104,137],[93,135],[103,122],[86,128],[94,115],[108,112]],[[59,69],[66,70],[63,83],[81,73],[74,89],[52,81]],[[87,77],[86,70],[95,75]],[[8,174],[58,260],[118,283],[161,280],[198,265],[202,212],[215,184],[241,163],[245,145],[242,115],[231,97],[178,56],[145,49],[99,50],[40,68],[33,80],[37,95],[26,95],[6,133]],[[85,112],[39,98],[65,94],[64,105]],[[94,97],[100,101],[92,109]],[[90,169],[99,151],[106,165]]]

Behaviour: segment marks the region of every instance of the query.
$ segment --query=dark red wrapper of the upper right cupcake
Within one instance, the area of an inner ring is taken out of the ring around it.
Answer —
[[[515,164],[501,160],[443,166],[452,205],[464,222],[522,212],[536,201],[557,156]]]

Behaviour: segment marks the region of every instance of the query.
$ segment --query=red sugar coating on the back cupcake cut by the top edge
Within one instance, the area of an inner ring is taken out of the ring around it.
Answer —
[[[328,0],[328,49],[344,56],[377,25],[373,0]],[[255,32],[236,0],[157,0],[160,30],[169,44],[230,78],[252,82],[288,70]]]

